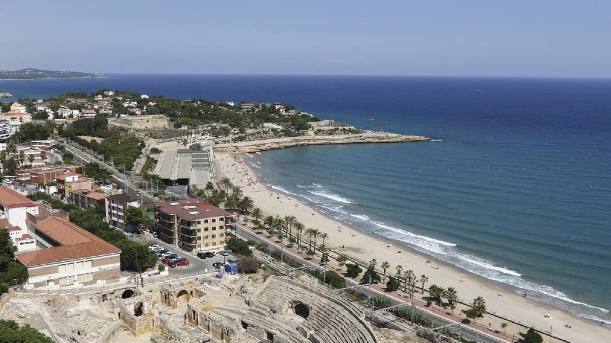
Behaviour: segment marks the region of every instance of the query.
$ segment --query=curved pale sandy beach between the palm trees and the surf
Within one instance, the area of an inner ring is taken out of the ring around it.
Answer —
[[[279,193],[277,190],[269,189],[258,182],[256,175],[243,162],[244,158],[249,157],[242,154],[219,154],[216,150],[214,155],[214,168],[218,178],[226,176],[233,184],[240,186],[244,195],[251,197],[255,202],[255,207],[261,208],[265,215],[280,215],[280,217],[293,215],[299,222],[304,223],[306,228],[317,228],[328,233],[329,238],[326,245],[333,248],[334,251],[341,251],[360,261],[370,261],[375,258],[378,261],[378,269],[380,269],[379,264],[389,261],[391,265],[387,272],[389,275],[395,273],[395,266],[400,264],[403,266],[403,270],[414,270],[418,279],[420,279],[420,275],[426,275],[428,282],[425,287],[431,284],[455,287],[459,300],[467,303],[481,296],[486,300],[488,311],[533,326],[541,331],[549,331],[552,327],[552,333],[565,341],[601,342],[605,340],[604,337],[611,333],[609,328],[597,325],[590,320],[537,303],[477,275],[438,262],[431,256],[419,251],[397,247],[397,245],[385,240],[364,234],[359,229],[338,222],[334,218],[325,217],[307,204],[287,194]],[[318,244],[320,243],[321,240],[319,239]],[[389,244],[391,244],[390,247],[388,247]],[[344,247],[343,250],[342,246]],[[418,288],[415,295],[417,298],[422,296]],[[466,309],[466,306],[460,305],[454,311],[457,320],[461,309]],[[547,314],[550,316],[547,317]],[[450,315],[449,309],[447,309],[447,315]],[[518,332],[525,332],[524,327],[489,314],[477,319],[477,323],[483,323],[486,327],[489,324],[492,329],[501,333],[503,330],[500,328],[500,324],[503,322],[508,324],[505,330],[507,341],[511,341],[511,334],[516,334],[517,340],[519,338]],[[544,341],[547,342],[548,339],[545,338]],[[552,339],[552,342],[561,341]]]

